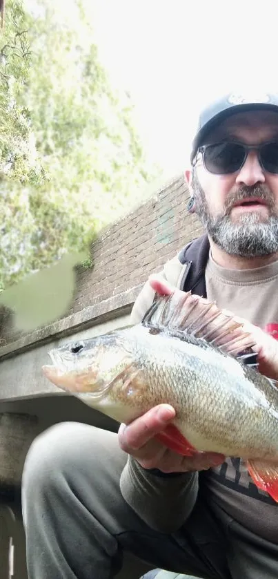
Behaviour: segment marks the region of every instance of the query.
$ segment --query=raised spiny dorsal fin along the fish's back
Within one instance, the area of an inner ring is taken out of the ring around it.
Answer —
[[[191,292],[173,292],[155,299],[142,320],[142,325],[156,332],[168,331],[186,339],[193,336],[217,346],[221,351],[239,357],[250,366],[257,366],[251,350],[255,340],[244,329],[244,323],[228,310],[220,310],[215,302]]]

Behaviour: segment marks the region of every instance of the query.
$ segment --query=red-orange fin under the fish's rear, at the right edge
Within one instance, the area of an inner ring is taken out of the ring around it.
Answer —
[[[248,460],[246,466],[255,485],[261,488],[261,491],[268,493],[275,502],[278,502],[278,464]]]

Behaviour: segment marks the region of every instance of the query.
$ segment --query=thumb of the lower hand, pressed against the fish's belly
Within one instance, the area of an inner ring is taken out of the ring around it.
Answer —
[[[120,447],[126,453],[133,454],[160,433],[173,418],[175,418],[174,408],[169,404],[160,404],[128,426],[121,424],[118,433]],[[163,446],[159,442],[157,445]]]

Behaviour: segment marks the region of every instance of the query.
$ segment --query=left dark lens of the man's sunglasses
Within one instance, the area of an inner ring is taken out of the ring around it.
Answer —
[[[204,162],[210,173],[228,175],[239,171],[244,162],[244,147],[237,143],[219,143],[206,147]]]

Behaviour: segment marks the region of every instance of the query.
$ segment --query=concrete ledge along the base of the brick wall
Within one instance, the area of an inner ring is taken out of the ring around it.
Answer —
[[[42,343],[53,341],[54,338],[70,336],[79,330],[85,330],[110,319],[129,314],[142,287],[143,283],[131,287],[126,292],[111,296],[95,305],[90,305],[77,314],[57,320],[43,328],[38,328],[31,334],[22,336],[17,341],[1,346],[0,361],[26,352],[31,348],[36,348]]]

